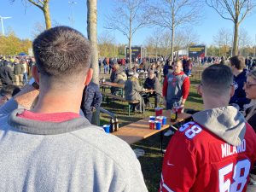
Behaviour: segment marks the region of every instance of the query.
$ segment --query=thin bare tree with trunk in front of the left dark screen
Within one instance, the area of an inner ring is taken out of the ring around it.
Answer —
[[[112,14],[107,15],[109,30],[117,30],[125,35],[129,44],[131,67],[131,42],[138,29],[147,26],[150,14],[148,12],[148,0],[115,0]]]

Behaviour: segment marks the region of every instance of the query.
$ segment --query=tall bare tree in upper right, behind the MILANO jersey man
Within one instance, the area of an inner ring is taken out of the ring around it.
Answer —
[[[215,9],[218,15],[234,23],[233,55],[238,54],[238,31],[242,20],[252,12],[255,0],[206,0],[208,6]]]

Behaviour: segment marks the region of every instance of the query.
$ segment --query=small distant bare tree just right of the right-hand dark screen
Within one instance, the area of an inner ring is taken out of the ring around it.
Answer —
[[[218,45],[218,55],[227,56],[231,44],[231,32],[229,29],[221,28],[213,36],[214,44]],[[223,50],[223,51],[221,51]]]

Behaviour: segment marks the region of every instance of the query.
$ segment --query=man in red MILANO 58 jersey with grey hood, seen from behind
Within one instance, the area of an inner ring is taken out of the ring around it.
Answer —
[[[204,111],[183,125],[166,149],[160,192],[245,192],[256,160],[256,135],[243,115],[228,106],[234,94],[230,67],[202,73]]]

